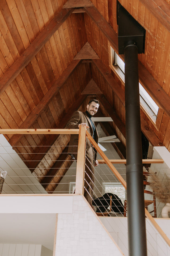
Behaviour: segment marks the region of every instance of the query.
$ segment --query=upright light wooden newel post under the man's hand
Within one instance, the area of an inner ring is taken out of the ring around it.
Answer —
[[[86,154],[86,127],[80,125],[77,153],[75,194],[84,194],[84,165]]]

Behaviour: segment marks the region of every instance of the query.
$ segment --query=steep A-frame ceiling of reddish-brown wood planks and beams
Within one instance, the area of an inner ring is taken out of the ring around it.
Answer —
[[[157,126],[141,109],[141,130],[153,146],[170,151],[169,1],[120,3],[146,29],[139,79],[159,106]],[[114,147],[123,157],[124,85],[110,67],[110,46],[118,53],[116,0],[1,0],[0,9],[0,128],[65,128],[95,97],[98,115],[113,119],[107,133],[120,139]],[[6,138],[52,193],[71,164],[65,162],[69,136]]]

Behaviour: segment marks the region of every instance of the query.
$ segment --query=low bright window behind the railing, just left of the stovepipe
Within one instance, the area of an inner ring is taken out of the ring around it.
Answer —
[[[117,195],[122,203],[125,201],[125,188],[120,182],[103,182],[102,183],[103,194],[113,193]]]

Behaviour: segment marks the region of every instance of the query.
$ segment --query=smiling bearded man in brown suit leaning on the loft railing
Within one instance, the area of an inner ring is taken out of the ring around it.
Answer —
[[[99,101],[92,99],[87,105],[86,112],[75,111],[66,125],[66,129],[76,129],[80,125],[87,127],[87,131],[91,134],[93,139],[98,143],[98,133],[96,126],[92,122],[91,118],[97,113],[99,108]],[[78,134],[71,134],[69,150],[73,159],[77,160],[77,149],[78,149]],[[86,160],[85,160],[85,174],[84,174],[84,197],[87,199],[89,204],[92,206],[92,196],[94,188],[94,166],[98,165],[96,160],[97,151],[91,145],[90,141],[86,141]]]

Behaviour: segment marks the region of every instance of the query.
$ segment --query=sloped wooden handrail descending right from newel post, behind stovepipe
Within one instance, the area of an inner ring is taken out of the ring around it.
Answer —
[[[105,163],[110,167],[110,169],[112,170],[112,172],[114,173],[114,175],[116,175],[116,177],[118,178],[118,180],[121,182],[121,184],[125,187],[126,189],[126,182],[125,180],[121,177],[121,175],[118,173],[118,171],[116,170],[116,168],[112,165],[111,161],[105,156],[105,154],[103,153],[103,151],[100,149],[100,147],[97,145],[97,143],[94,141],[94,139],[92,139],[91,135],[88,133],[88,131],[86,130],[86,136],[87,138],[90,140],[90,142],[92,143],[92,145],[96,148],[97,152],[100,154],[100,156],[103,158],[103,160],[105,161]],[[155,159],[154,159],[155,160]],[[159,159],[160,160],[160,159]],[[161,159],[162,160],[162,159]],[[156,223],[156,221],[154,220],[154,218],[151,216],[151,214],[148,212],[148,210],[146,210],[145,208],[145,215],[146,217],[150,220],[150,222],[152,223],[152,225],[155,227],[155,229],[159,232],[159,234],[162,236],[162,238],[165,240],[165,242],[170,246],[170,239],[167,237],[167,235],[164,233],[164,231],[160,228],[160,226]]]

